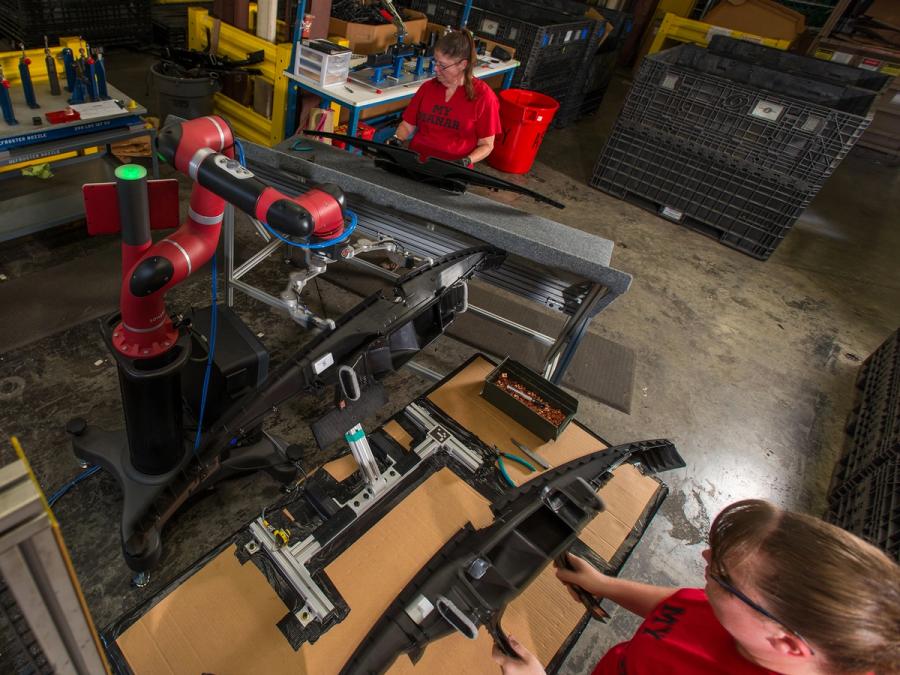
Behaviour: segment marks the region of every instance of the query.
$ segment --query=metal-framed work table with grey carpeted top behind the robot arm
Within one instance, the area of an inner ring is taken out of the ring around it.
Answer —
[[[553,337],[479,307],[470,305],[469,309],[548,346],[543,372],[554,382],[561,380],[590,321],[631,285],[631,275],[609,266],[613,242],[607,239],[478,195],[453,195],[392,175],[377,169],[368,158],[329,145],[314,143],[313,156],[292,153],[288,148],[293,141],[288,139],[274,149],[246,144],[249,167],[263,181],[288,194],[306,190],[307,184],[336,183],[359,215],[360,235],[372,240],[394,237],[423,258],[435,258],[473,242],[507,251],[507,261],[480,278],[566,315],[562,331]],[[236,266],[230,210],[226,210],[224,225],[229,304],[236,288],[286,308],[283,300],[241,279],[283,244],[268,240],[259,252]],[[396,278],[359,258],[349,262],[384,278]]]

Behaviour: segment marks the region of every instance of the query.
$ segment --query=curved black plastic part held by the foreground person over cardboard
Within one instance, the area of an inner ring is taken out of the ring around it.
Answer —
[[[666,440],[602,450],[547,471],[497,499],[494,523],[460,530],[397,596],[360,643],[342,675],[385,672],[402,653],[413,661],[435,640],[459,631],[474,639],[488,626],[501,648],[499,617],[602,509],[596,490],[625,461],[652,455],[654,466],[684,461]]]

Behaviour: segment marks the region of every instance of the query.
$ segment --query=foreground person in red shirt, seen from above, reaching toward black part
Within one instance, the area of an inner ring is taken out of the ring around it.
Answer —
[[[900,566],[874,546],[811,516],[761,500],[737,502],[712,524],[704,589],[607,577],[572,555],[558,569],[644,617],[593,675],[837,675],[900,673]],[[544,669],[494,650],[504,675]]]

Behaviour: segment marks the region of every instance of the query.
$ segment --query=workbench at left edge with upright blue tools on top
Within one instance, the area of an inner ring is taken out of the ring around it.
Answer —
[[[155,140],[156,130],[147,128],[140,117],[147,114],[147,109],[141,105],[128,107],[131,97],[111,84],[107,86],[111,99],[122,101],[125,107],[62,124],[49,124],[45,114],[67,107],[69,94],[65,90],[58,96],[50,96],[42,86],[37,93],[41,107],[32,110],[25,105],[20,86],[10,89],[19,124],[9,126],[0,120],[0,167],[63,158],[52,162],[54,176],[46,180],[26,178],[19,171],[0,173],[3,190],[0,209],[4,214],[0,223],[0,241],[82,217],[81,186],[114,180],[113,171],[118,161],[112,157],[110,146],[139,136],[149,136],[151,144]],[[35,126],[31,118],[37,116],[41,117],[42,123]],[[79,153],[89,148],[105,148],[105,152]],[[151,153],[151,163],[153,177],[158,178],[156,153]]]

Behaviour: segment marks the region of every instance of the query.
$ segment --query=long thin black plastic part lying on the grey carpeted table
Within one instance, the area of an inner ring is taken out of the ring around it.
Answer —
[[[507,190],[518,194],[531,197],[535,201],[555,206],[558,209],[564,209],[565,204],[561,204],[555,199],[551,199],[534,190],[510,183],[502,178],[496,178],[474,169],[467,169],[455,162],[448,162],[437,157],[429,157],[424,162],[419,159],[419,154],[408,150],[407,148],[399,148],[385,143],[376,143],[375,141],[366,141],[355,136],[346,136],[344,134],[333,134],[325,131],[304,131],[308,136],[316,136],[319,138],[329,138],[332,140],[343,141],[347,145],[353,145],[360,150],[366,150],[375,156],[375,166],[396,173],[420,183],[434,185],[442,190],[462,194],[469,185],[478,185],[481,187],[491,188],[494,190]]]

